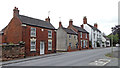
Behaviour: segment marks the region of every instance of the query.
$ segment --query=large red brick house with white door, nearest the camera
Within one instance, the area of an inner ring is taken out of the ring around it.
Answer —
[[[49,17],[43,21],[20,15],[15,7],[13,18],[2,32],[2,43],[25,42],[26,56],[54,53],[56,50],[56,32]]]

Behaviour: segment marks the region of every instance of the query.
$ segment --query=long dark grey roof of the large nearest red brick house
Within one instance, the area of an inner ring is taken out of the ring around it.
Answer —
[[[19,15],[18,17],[21,20],[21,22],[26,25],[37,26],[37,27],[48,28],[48,29],[55,29],[50,22],[46,22],[40,19],[35,19],[32,17],[24,16],[24,15]]]

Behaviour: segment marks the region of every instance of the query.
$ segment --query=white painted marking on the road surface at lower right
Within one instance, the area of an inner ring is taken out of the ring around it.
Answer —
[[[109,59],[98,59],[97,61],[89,63],[89,65],[92,65],[92,66],[104,66],[109,62],[110,62]]]

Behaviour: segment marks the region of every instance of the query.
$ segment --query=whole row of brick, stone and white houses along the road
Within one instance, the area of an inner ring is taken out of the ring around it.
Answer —
[[[15,7],[13,18],[0,32],[1,43],[25,42],[27,56],[110,46],[109,39],[103,36],[97,23],[94,26],[88,24],[86,17],[81,26],[73,25],[72,19],[68,23],[69,26],[65,28],[60,21],[59,28],[55,29],[49,16],[45,21],[35,19],[20,15]]]

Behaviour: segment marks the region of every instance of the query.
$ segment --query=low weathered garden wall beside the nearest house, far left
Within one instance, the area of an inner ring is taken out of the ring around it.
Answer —
[[[1,49],[2,48],[2,49]],[[23,44],[7,44],[0,46],[2,61],[8,61],[25,57],[25,46]]]

